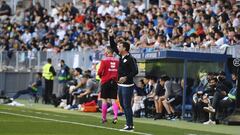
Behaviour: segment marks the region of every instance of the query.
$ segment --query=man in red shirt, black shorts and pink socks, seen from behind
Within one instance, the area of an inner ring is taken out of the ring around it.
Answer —
[[[102,123],[107,122],[107,100],[112,100],[114,118],[112,123],[117,123],[118,105],[116,103],[118,91],[118,65],[119,60],[113,57],[111,47],[105,49],[106,57],[101,60],[98,75],[101,78],[101,98],[102,98]]]

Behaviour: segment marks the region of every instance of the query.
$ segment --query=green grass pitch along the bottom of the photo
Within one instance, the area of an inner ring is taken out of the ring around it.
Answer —
[[[21,101],[25,104],[25,101]],[[119,131],[119,122],[102,124],[100,113],[68,111],[52,106],[33,104],[26,107],[0,105],[0,135],[239,135],[239,126],[202,125],[186,121],[134,119],[132,133]]]

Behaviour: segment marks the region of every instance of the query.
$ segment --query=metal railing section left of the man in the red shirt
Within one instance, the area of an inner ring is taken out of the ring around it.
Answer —
[[[68,51],[62,53],[55,52],[0,52],[0,71],[13,72],[31,72],[41,71],[42,66],[46,63],[47,58],[52,59],[52,65],[55,69],[61,59],[65,60],[70,68],[81,67],[84,70],[90,69],[94,57],[94,52],[91,50]]]

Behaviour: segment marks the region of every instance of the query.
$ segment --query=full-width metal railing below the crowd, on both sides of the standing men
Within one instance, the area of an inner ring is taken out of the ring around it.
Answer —
[[[230,46],[224,49],[218,48],[172,48],[146,51],[146,49],[135,49],[132,53],[151,53],[158,51],[178,51],[178,52],[194,52],[194,53],[212,53],[227,54],[233,58],[240,58],[240,45]],[[30,72],[41,71],[42,66],[46,63],[47,58],[52,58],[53,66],[58,69],[58,63],[61,59],[65,60],[70,68],[81,67],[84,70],[91,69],[93,60],[101,60],[102,53],[91,49],[83,49],[82,51],[66,51],[61,53],[55,52],[0,52],[0,71]],[[139,58],[141,59],[141,58]],[[143,58],[142,58],[143,59]]]

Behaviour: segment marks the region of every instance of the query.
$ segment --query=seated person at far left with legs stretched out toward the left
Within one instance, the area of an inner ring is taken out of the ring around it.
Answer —
[[[18,91],[13,98],[10,98],[12,101],[24,94],[29,94],[35,97],[35,102],[37,102],[37,91],[42,86],[42,73],[37,73],[36,81],[28,86],[25,90]]]

